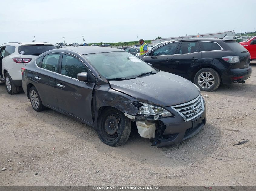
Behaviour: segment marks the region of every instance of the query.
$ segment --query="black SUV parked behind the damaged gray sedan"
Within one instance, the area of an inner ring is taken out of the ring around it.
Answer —
[[[138,57],[194,82],[202,91],[213,91],[220,83],[245,83],[252,73],[250,53],[236,40],[168,41]]]

